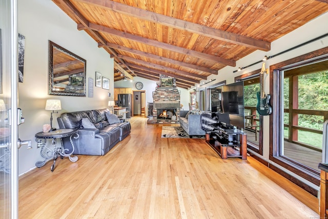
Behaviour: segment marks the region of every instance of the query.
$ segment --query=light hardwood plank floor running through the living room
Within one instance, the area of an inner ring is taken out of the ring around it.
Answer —
[[[133,117],[105,156],[58,158],[19,178],[19,218],[319,218],[318,199],[252,157],[204,139],[161,138]]]

